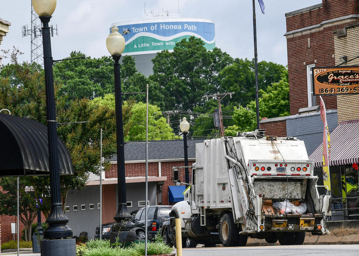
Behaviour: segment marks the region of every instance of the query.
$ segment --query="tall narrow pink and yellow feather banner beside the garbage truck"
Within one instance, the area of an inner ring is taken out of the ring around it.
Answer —
[[[330,137],[329,137],[329,129],[327,124],[327,115],[325,110],[324,101],[322,96],[320,97],[320,117],[322,118],[324,124],[324,132],[323,132],[323,181],[324,185],[328,186],[329,191],[330,188],[330,174],[329,174],[329,158],[330,158]]]

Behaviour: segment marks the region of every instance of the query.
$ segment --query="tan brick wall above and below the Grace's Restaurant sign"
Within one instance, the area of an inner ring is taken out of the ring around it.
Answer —
[[[335,61],[341,63],[340,57],[347,56],[351,60],[359,56],[359,23],[345,27],[346,35],[334,36]],[[359,59],[344,64],[345,66],[359,65]],[[359,95],[338,95],[338,122],[359,119]]]

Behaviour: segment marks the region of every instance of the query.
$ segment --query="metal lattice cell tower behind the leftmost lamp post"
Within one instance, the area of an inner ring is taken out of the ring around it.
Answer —
[[[51,37],[53,34],[59,35],[57,33],[57,24],[56,28],[50,26]],[[43,66],[43,48],[42,48],[42,23],[34,10],[31,3],[31,29],[28,29],[27,25],[22,27],[22,37],[31,35],[31,63],[36,62],[37,64]]]

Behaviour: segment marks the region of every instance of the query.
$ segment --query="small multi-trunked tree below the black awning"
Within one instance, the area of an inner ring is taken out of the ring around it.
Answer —
[[[3,192],[0,193],[0,213],[17,216],[17,178],[0,177]],[[37,216],[36,201],[33,192],[25,192],[26,182],[19,178],[19,221],[25,227],[25,241],[31,241],[31,224]]]

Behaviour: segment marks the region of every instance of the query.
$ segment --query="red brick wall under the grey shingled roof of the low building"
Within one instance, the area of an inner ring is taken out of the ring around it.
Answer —
[[[188,165],[191,166],[195,161],[188,161]],[[164,181],[162,186],[162,204],[168,204],[168,186],[173,186],[172,182],[172,167],[173,166],[185,166],[184,161],[177,162],[161,162],[161,176],[167,176],[167,180]],[[145,177],[146,163],[126,163],[125,171],[126,177]],[[191,179],[191,169],[189,169]],[[159,176],[158,162],[148,163],[148,176]],[[105,172],[105,178],[117,178],[117,164],[112,164],[110,170]],[[184,181],[184,169],[181,169],[181,180]]]

